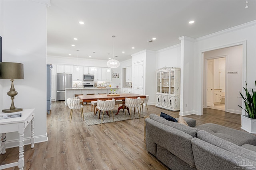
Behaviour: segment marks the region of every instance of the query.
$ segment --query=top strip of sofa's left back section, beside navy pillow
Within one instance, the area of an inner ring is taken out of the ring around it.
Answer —
[[[189,126],[186,126],[186,125],[182,125],[181,123],[168,121],[168,120],[164,119],[163,117],[160,117],[156,114],[150,114],[149,117],[150,117],[150,119],[153,119],[154,121],[157,121],[157,122],[162,123],[164,125],[168,125],[170,127],[173,127],[175,129],[178,129],[178,130],[183,131],[185,133],[188,133],[192,137],[196,137],[196,133],[199,131],[196,128],[189,127]]]

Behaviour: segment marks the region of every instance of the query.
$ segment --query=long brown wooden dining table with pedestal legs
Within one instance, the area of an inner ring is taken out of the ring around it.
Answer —
[[[124,108],[125,108],[124,101],[125,101],[125,98],[133,98],[133,99],[136,99],[138,97],[140,97],[142,99],[146,98],[145,95],[134,94],[134,93],[120,94],[120,96],[109,96],[109,95],[110,94],[94,94],[94,95],[80,95],[80,96],[77,96],[77,97],[82,102],[92,102],[92,101],[97,101],[97,100],[112,100],[112,99],[122,100],[123,101],[122,106],[118,107],[118,111],[117,111],[116,115],[119,113],[120,109],[123,109],[123,112],[124,112]],[[128,110],[128,113],[130,114],[128,107],[127,107],[127,110]]]

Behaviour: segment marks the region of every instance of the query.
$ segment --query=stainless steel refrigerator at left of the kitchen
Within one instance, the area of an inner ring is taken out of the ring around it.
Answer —
[[[65,88],[72,87],[72,74],[57,74],[56,100],[65,100]]]

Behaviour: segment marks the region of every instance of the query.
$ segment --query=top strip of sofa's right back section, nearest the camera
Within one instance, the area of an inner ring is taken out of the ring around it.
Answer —
[[[256,161],[256,152],[254,152],[252,150],[245,149],[243,147],[239,147],[238,145],[236,145],[234,143],[231,143],[224,139],[216,137],[206,131],[202,131],[202,130],[198,131],[197,138],[201,139],[202,141],[205,141],[207,143],[210,143],[212,145],[215,145],[216,147],[220,147],[224,150],[227,150],[229,152],[237,154],[239,156]]]

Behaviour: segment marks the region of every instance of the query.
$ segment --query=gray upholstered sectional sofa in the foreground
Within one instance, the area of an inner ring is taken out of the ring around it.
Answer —
[[[148,152],[171,170],[256,170],[256,136],[184,117],[189,126],[151,114],[145,119]]]

